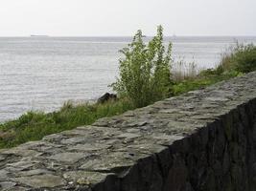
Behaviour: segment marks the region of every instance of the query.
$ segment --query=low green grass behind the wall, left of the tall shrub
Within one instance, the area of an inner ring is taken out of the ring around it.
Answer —
[[[58,112],[28,112],[21,117],[0,124],[0,148],[38,140],[46,135],[93,123],[98,118],[111,117],[134,109],[128,100],[108,101],[104,104],[73,105],[65,103]]]

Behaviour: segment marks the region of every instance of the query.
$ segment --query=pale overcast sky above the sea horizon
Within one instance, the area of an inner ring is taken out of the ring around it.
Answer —
[[[256,0],[0,0],[0,36],[256,35]]]

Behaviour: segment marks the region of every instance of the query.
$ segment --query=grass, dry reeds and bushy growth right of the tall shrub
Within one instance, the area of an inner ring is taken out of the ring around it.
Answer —
[[[185,68],[186,70],[184,70],[183,74],[180,74],[182,70],[178,70],[178,73],[174,74],[174,96],[255,71],[256,46],[253,44],[241,45],[237,43],[235,47],[230,48],[229,52],[222,55],[219,66],[215,69],[202,70],[197,75],[195,75],[196,66],[193,63],[186,65],[186,63],[181,61],[177,65],[180,65],[177,68]],[[182,65],[185,67],[182,67]]]

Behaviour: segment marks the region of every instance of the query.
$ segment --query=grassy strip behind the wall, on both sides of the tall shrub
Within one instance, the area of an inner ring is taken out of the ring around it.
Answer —
[[[179,69],[182,63],[178,63]],[[256,48],[253,45],[238,45],[231,53],[225,54],[216,69],[203,70],[196,74],[195,65],[186,70],[173,71],[173,96],[204,88],[222,80],[256,70]],[[108,101],[104,104],[66,102],[53,113],[28,112],[21,117],[0,124],[0,148],[10,148],[21,143],[38,140],[46,135],[89,125],[98,118],[111,117],[135,109],[127,99]]]

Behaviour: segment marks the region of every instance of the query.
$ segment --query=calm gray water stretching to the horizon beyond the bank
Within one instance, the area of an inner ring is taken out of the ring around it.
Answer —
[[[130,37],[0,38],[0,121],[30,110],[50,112],[67,100],[91,100],[110,91],[118,50]],[[147,39],[146,39],[147,40]],[[175,60],[216,66],[228,47],[256,37],[170,37]]]

